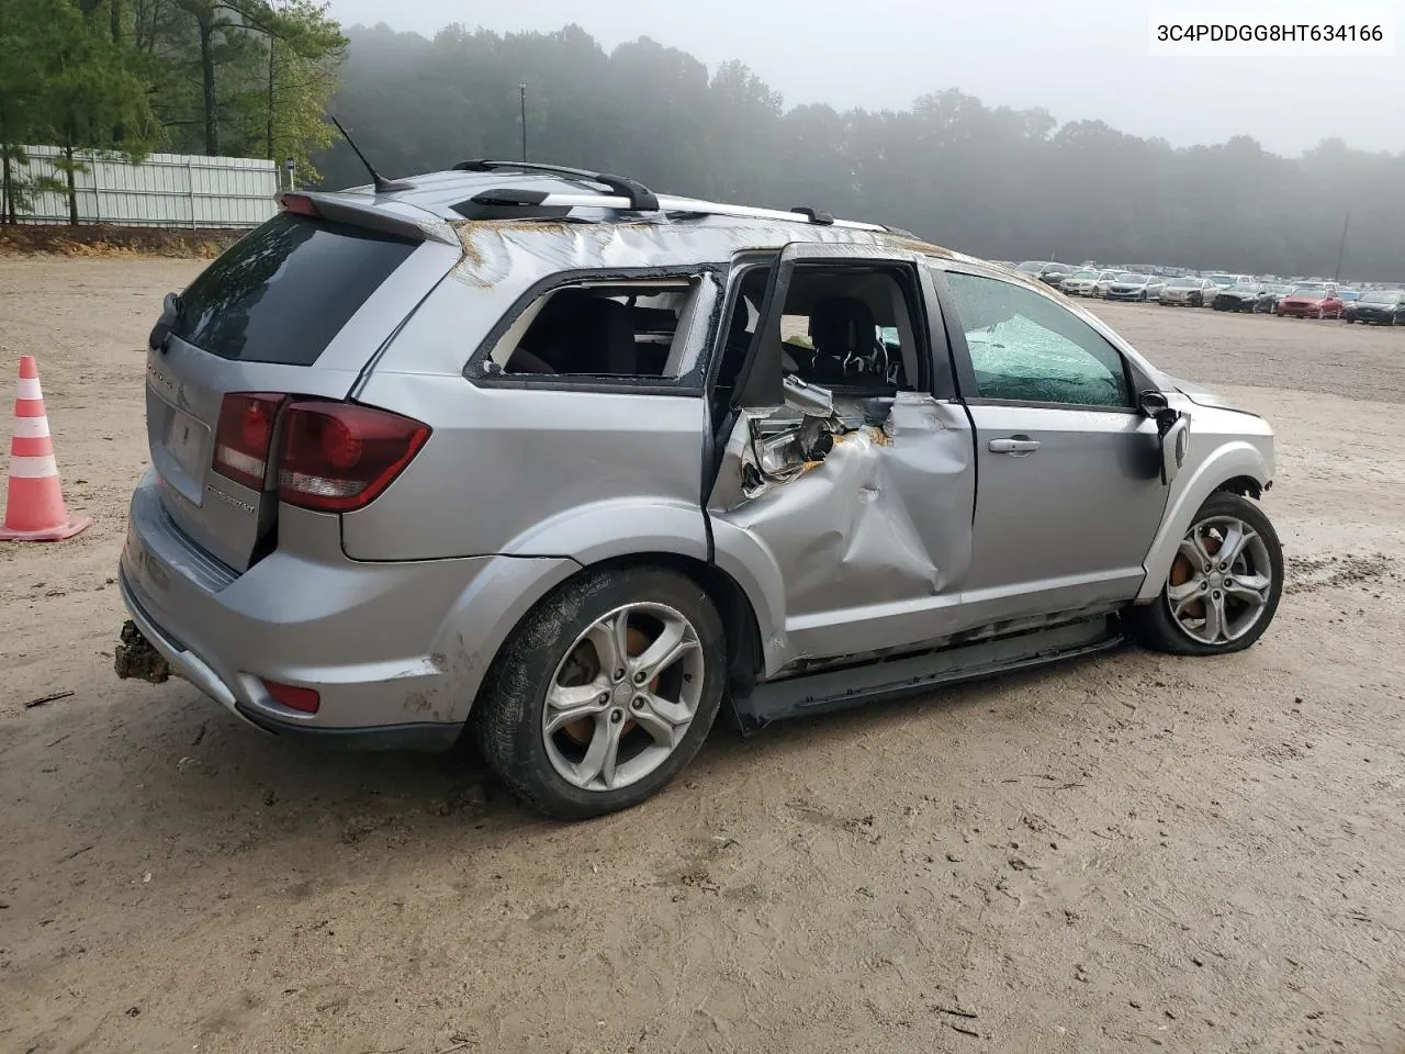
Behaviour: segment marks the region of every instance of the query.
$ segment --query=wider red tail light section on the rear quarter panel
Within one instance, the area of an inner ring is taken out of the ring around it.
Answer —
[[[285,410],[278,499],[323,513],[362,509],[430,437],[427,424],[371,406],[295,402]]]

